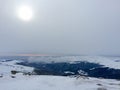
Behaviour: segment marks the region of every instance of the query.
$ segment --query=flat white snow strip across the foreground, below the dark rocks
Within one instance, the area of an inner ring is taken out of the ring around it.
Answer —
[[[97,85],[101,84],[101,86]],[[105,79],[82,79],[60,76],[22,76],[0,79],[1,90],[120,90],[120,81]]]

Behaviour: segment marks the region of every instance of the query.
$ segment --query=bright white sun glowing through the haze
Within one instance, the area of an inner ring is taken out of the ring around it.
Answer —
[[[17,10],[19,19],[30,21],[33,18],[33,10],[30,6],[20,6]]]

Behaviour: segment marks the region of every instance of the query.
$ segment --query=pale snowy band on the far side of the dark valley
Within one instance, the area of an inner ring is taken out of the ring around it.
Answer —
[[[106,56],[41,56],[30,57],[28,62],[69,62],[75,63],[76,61],[87,61],[91,63],[98,63],[105,67],[120,69],[120,57],[106,57]]]

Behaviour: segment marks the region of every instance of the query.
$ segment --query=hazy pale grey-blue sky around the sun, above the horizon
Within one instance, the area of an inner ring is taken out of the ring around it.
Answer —
[[[0,0],[0,53],[120,55],[120,0]]]

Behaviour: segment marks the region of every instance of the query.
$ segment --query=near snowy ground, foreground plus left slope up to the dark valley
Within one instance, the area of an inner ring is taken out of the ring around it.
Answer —
[[[17,60],[0,61],[0,90],[120,90],[120,81],[111,79],[11,74],[11,70],[33,68],[15,65]],[[12,78],[11,76],[15,76]]]

